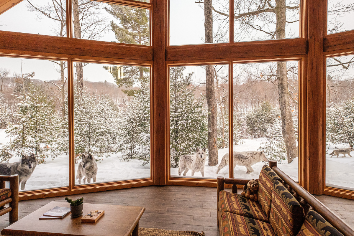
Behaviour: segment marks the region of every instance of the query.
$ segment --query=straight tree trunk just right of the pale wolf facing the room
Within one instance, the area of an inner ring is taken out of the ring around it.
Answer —
[[[213,42],[212,0],[204,0],[204,32],[205,43]],[[217,130],[216,130],[216,99],[214,89],[213,66],[205,66],[206,102],[208,104],[208,155],[209,166],[218,164]]]

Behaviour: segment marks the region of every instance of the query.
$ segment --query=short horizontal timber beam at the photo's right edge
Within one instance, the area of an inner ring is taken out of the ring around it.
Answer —
[[[324,39],[324,51],[354,51],[354,30],[329,34]]]

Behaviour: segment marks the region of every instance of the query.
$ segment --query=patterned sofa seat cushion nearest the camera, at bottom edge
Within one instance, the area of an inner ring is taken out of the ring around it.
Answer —
[[[230,212],[222,213],[219,230],[221,236],[276,236],[269,223]]]

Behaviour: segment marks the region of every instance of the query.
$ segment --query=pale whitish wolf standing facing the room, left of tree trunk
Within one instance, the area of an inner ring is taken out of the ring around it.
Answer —
[[[196,153],[194,155],[182,155],[179,158],[178,175],[184,171],[183,175],[192,170],[192,176],[194,172],[200,171],[201,176],[204,177],[204,166],[206,161],[206,149],[196,148]]]

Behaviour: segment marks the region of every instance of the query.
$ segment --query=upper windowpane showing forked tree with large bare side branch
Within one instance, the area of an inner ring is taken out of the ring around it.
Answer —
[[[234,9],[235,42],[299,37],[299,0],[235,0]]]

